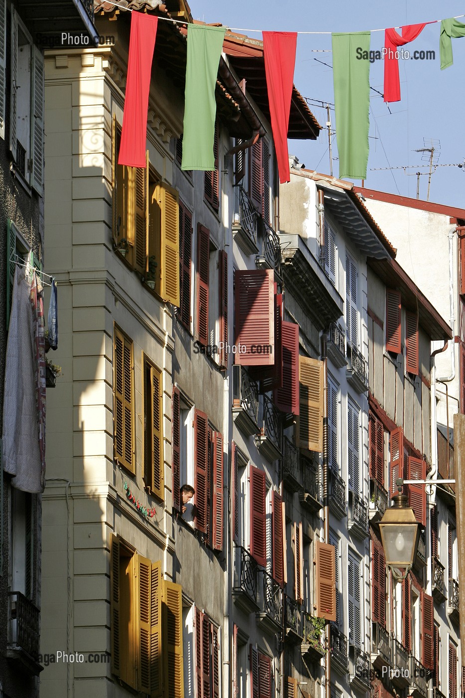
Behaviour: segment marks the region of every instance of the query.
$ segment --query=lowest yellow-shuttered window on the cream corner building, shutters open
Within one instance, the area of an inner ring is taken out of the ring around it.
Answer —
[[[182,695],[182,589],[116,535],[110,599],[112,674],[143,693]]]

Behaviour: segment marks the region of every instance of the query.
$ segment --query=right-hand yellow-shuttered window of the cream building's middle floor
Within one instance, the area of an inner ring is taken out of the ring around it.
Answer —
[[[144,357],[144,482],[164,499],[163,382],[161,371]]]

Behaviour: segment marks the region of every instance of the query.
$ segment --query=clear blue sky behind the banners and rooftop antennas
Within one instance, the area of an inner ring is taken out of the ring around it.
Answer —
[[[190,0],[195,19],[222,22],[232,29],[267,29],[281,31],[363,31],[402,24],[417,24],[465,14],[465,3],[458,0],[346,0],[316,2],[315,0],[252,0],[249,3],[223,0]],[[465,17],[460,20],[465,23]],[[434,50],[436,58],[429,61],[399,60],[401,101],[390,105],[371,90],[370,155],[365,186],[415,198],[415,168],[407,170],[371,171],[371,168],[395,168],[422,164],[423,138],[441,142],[438,163],[463,163],[465,158],[465,37],[452,39],[454,64],[440,70],[439,27],[431,24],[405,49]],[[261,38],[260,33],[249,36]],[[384,32],[371,34],[371,49],[381,50]],[[295,84],[300,93],[316,100],[334,103],[332,68],[319,64],[315,58],[332,65],[331,53],[315,53],[314,49],[331,49],[330,35],[299,35],[295,64]],[[370,85],[383,92],[383,61],[370,68]],[[311,107],[325,126],[326,110]],[[334,111],[332,124],[336,128]],[[289,151],[296,154],[310,169],[329,172],[327,131],[315,141],[289,141]],[[334,156],[337,157],[337,135]],[[334,159],[333,172],[339,173]],[[422,169],[421,172],[427,172]],[[420,177],[420,198],[427,195],[427,174]],[[360,184],[360,181],[357,182]],[[431,178],[430,201],[465,208],[465,168],[441,167]]]

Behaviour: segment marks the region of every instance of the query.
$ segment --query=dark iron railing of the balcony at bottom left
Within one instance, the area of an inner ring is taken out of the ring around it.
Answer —
[[[19,591],[10,591],[8,595],[11,646],[13,649],[21,648],[37,661],[40,649],[40,611]]]

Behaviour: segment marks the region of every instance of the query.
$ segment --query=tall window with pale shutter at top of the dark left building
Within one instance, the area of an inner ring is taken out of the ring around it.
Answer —
[[[0,22],[0,30],[3,27]],[[16,170],[40,195],[43,195],[43,76],[43,55],[12,6],[10,151]],[[4,91],[4,84],[1,87]]]

